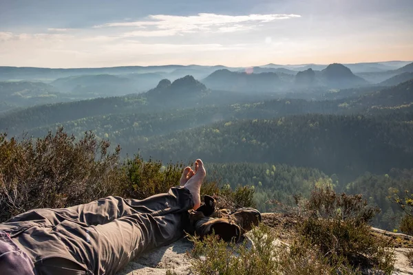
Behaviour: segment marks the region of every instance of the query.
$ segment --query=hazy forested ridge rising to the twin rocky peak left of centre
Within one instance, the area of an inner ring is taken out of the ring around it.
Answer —
[[[210,91],[192,76],[185,76],[173,83],[169,80],[162,80],[158,87],[143,94],[46,104],[14,111],[0,116],[0,131],[8,131],[12,135],[17,135],[35,127],[70,122],[96,115],[153,113],[169,109],[193,109],[207,105],[222,106],[269,98],[274,98],[274,96],[272,94],[254,95],[231,91]]]

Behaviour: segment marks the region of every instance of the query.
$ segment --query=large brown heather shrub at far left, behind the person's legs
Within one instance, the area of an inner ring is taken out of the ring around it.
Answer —
[[[37,140],[0,135],[0,221],[33,208],[61,208],[123,195],[120,147],[87,132],[78,141],[63,128]]]

